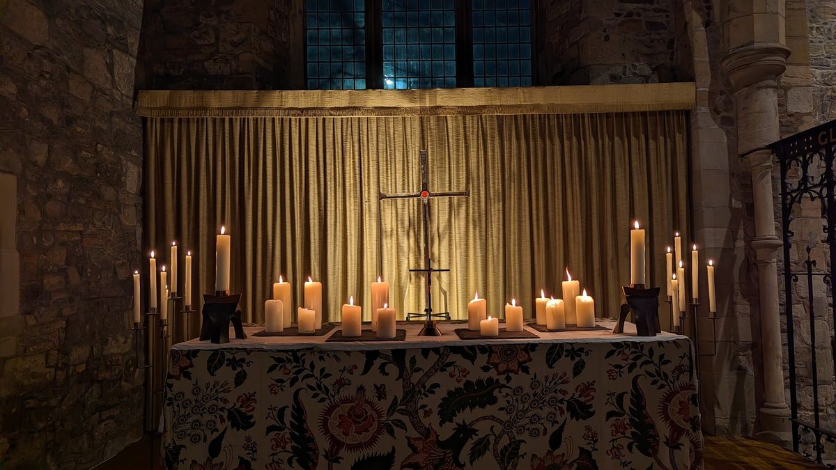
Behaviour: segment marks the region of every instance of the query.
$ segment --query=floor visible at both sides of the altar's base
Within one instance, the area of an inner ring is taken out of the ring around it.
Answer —
[[[151,447],[150,435],[132,444],[116,457],[102,463],[95,470],[147,470],[151,449],[160,446],[160,438],[155,436]],[[161,456],[156,454],[154,470],[162,470]],[[705,470],[803,470],[805,468],[823,468],[802,457],[766,442],[759,442],[743,437],[706,437]]]

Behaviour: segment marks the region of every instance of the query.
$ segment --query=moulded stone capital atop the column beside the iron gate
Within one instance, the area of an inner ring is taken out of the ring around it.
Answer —
[[[755,43],[726,52],[720,66],[739,90],[765,79],[776,79],[787,69],[790,50],[778,43]]]

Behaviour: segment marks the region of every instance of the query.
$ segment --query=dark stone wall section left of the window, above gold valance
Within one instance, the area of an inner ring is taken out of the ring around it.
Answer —
[[[145,89],[303,88],[302,3],[148,0],[141,48]]]

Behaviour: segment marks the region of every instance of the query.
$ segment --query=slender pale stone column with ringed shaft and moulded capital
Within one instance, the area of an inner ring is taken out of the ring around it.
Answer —
[[[790,440],[790,410],[784,399],[781,323],[778,309],[777,249],[772,197],[772,154],[754,149],[779,139],[777,76],[785,69],[789,49],[781,44],[755,43],[732,49],[721,66],[737,100],[737,150],[747,154],[752,171],[757,289],[760,300],[763,403],[758,437],[772,442]]]

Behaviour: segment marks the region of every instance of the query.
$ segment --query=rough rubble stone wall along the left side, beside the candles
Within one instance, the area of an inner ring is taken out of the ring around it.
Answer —
[[[89,468],[140,437],[141,18],[140,0],[0,0],[0,172],[17,182],[21,295],[0,317],[3,468]]]

